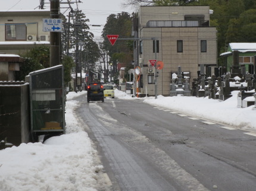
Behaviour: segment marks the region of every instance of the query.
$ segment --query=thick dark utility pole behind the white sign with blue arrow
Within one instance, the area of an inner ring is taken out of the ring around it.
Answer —
[[[51,10],[50,18],[60,18],[60,0],[50,0]],[[60,51],[60,32],[50,32],[50,67],[60,64],[61,51]]]

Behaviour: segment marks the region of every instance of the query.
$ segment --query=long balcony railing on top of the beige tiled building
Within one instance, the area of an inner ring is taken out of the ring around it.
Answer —
[[[209,27],[209,21],[148,21],[146,27]]]

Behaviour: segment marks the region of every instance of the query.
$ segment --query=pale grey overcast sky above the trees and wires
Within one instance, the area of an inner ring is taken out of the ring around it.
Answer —
[[[67,0],[60,0],[67,2]],[[76,0],[71,0],[75,2]],[[77,0],[78,1],[78,0]],[[91,27],[90,31],[94,36],[101,36],[101,30],[106,23],[107,17],[110,14],[117,14],[121,11],[129,13],[133,12],[132,8],[123,8],[121,3],[125,0],[80,0],[82,3],[78,4],[78,8],[82,10],[86,17],[89,18],[89,24],[100,24],[102,27]],[[0,0],[0,9],[35,9],[39,6],[40,0]],[[49,0],[45,0],[45,7],[49,9]],[[76,9],[76,4],[71,5],[73,9]],[[67,4],[61,4],[61,7],[68,7]],[[62,8],[61,12],[64,13],[67,8]],[[64,15],[68,14],[67,10]]]

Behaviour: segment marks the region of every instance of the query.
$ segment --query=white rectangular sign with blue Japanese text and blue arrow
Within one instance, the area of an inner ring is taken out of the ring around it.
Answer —
[[[61,32],[63,21],[60,18],[43,18],[43,31]]]

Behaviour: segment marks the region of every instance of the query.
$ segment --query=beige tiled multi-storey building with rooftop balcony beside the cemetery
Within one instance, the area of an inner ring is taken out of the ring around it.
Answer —
[[[164,63],[164,68],[157,70],[157,93],[164,96],[170,95],[172,74],[177,74],[178,66],[190,77],[190,83],[198,77],[201,64],[216,66],[217,31],[216,27],[210,27],[211,12],[209,6],[145,6],[139,9],[138,21],[133,27],[139,39],[135,61],[142,68],[141,93],[155,94],[154,70],[148,69],[151,59]]]

